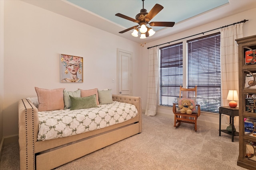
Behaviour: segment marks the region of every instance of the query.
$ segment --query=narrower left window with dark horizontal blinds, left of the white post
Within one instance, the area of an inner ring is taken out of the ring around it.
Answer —
[[[177,102],[180,85],[183,83],[182,43],[160,48],[159,96],[161,106],[172,106]]]

